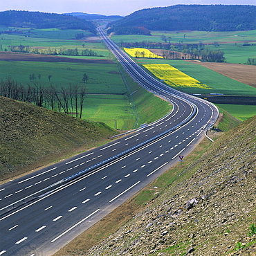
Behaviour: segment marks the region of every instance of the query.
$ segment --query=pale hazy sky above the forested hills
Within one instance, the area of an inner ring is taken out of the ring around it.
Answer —
[[[241,4],[256,6],[256,0],[1,0],[0,11],[86,12],[127,16],[136,10],[176,4]]]

